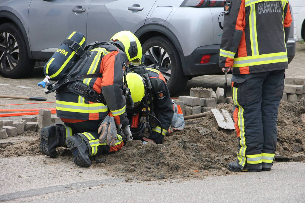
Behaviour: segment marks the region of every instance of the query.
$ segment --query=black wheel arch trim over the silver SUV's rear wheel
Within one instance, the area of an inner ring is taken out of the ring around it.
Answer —
[[[175,34],[170,31],[165,26],[162,26],[160,24],[148,24],[145,26],[140,27],[136,32],[135,36],[138,37],[140,40],[141,44],[145,43],[149,38],[154,37],[154,36],[165,36],[167,37],[176,47],[179,57],[181,60],[181,65],[182,65],[182,70],[183,73],[185,74],[185,69],[186,69],[186,64],[185,64],[185,58],[184,54],[182,51],[181,44],[179,43],[178,38],[175,36]]]

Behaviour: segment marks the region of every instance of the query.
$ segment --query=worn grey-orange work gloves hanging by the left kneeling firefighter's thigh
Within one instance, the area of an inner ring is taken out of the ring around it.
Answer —
[[[99,143],[105,143],[108,146],[115,146],[117,140],[117,127],[112,116],[107,115],[99,126]]]

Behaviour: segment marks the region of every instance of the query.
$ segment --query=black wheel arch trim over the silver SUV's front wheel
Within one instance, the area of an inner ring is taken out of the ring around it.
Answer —
[[[20,21],[20,19],[18,19],[18,17],[15,14],[13,14],[12,12],[1,11],[0,22],[1,22],[0,24],[4,24],[4,23],[7,23],[7,22],[12,22],[20,29],[20,31],[23,35],[23,38],[25,40],[25,43],[27,45],[28,57],[32,59],[33,56],[32,56],[32,53],[30,51],[30,43],[29,43],[29,40],[28,40],[27,32],[26,32],[22,22]]]

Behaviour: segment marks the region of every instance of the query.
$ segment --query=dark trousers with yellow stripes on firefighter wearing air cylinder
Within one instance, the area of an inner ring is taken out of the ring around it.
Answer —
[[[87,146],[89,148],[89,156],[106,154],[121,150],[124,143],[122,136],[119,133],[117,133],[117,141],[115,146],[109,147],[106,144],[106,141],[105,143],[99,143],[98,128],[100,122],[101,120],[83,121],[77,123],[65,122],[65,136],[66,138],[68,136],[81,136],[82,139],[84,139],[84,141],[87,143]]]

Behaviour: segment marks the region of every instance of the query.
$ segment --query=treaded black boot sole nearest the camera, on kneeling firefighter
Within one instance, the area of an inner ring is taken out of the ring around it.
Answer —
[[[80,149],[79,145],[76,144],[76,141],[73,136],[68,137],[66,139],[66,144],[69,150],[73,155],[73,162],[80,167],[90,167],[91,160],[88,156],[86,156],[82,150]]]

